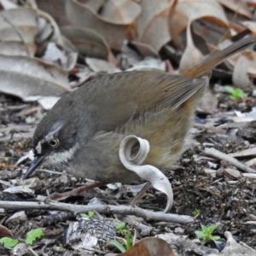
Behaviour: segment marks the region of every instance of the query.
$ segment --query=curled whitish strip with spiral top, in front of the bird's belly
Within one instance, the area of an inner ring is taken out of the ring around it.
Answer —
[[[132,156],[132,147],[139,143],[139,150],[135,156]],[[136,137],[127,136],[125,137],[119,146],[119,159],[125,168],[131,172],[137,173],[139,177],[148,180],[152,183],[154,189],[161,191],[167,196],[167,205],[165,212],[168,212],[172,208],[173,193],[172,185],[164,175],[154,166],[140,166],[143,160],[146,159],[150,146],[147,140]]]

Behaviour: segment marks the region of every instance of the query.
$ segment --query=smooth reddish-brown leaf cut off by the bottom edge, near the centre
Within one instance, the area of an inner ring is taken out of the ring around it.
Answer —
[[[168,243],[160,238],[147,237],[138,241],[127,252],[118,254],[119,256],[174,256],[172,248]]]

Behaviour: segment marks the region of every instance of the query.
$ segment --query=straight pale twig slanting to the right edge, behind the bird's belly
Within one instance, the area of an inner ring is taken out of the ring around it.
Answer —
[[[241,171],[243,172],[256,173],[256,171],[253,168],[244,165],[240,161],[236,160],[236,158],[228,154],[224,154],[215,148],[205,148],[205,154],[211,155],[215,158],[218,158],[219,160],[225,160],[232,164],[233,166],[236,166],[237,168],[241,169]]]

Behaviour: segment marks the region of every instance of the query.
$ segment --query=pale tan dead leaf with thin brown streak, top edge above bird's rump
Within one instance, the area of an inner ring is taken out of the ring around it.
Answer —
[[[173,1],[142,0],[142,15],[137,22],[137,41],[148,44],[158,52],[171,40],[168,16]]]

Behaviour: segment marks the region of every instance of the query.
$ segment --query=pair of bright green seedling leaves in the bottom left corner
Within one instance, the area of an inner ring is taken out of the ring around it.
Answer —
[[[32,245],[34,241],[36,241],[38,238],[42,238],[43,236],[44,232],[41,229],[30,230],[26,233],[25,242]],[[3,237],[0,239],[0,242],[3,244],[3,247],[10,249],[15,247],[15,245],[17,245],[20,241],[18,239]]]

